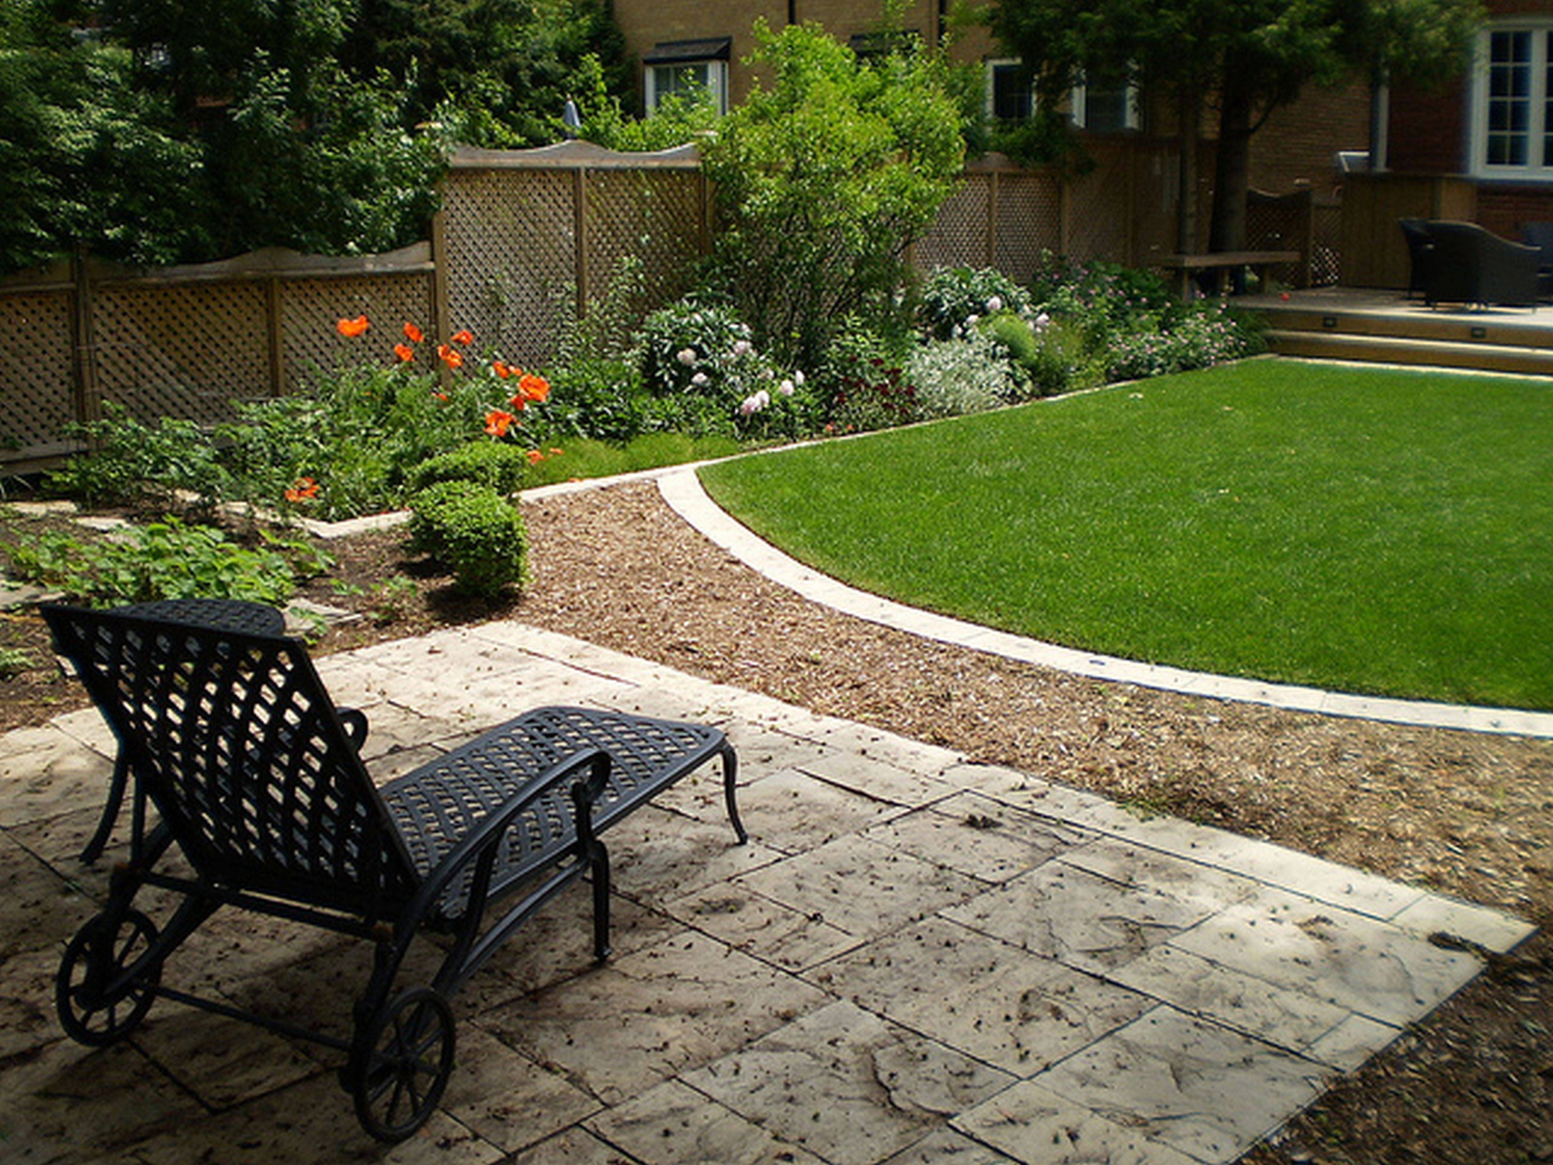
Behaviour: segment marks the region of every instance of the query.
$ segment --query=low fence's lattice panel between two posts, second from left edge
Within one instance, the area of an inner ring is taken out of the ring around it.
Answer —
[[[138,419],[214,424],[231,416],[233,399],[269,393],[261,284],[101,284],[92,329],[102,399]]]

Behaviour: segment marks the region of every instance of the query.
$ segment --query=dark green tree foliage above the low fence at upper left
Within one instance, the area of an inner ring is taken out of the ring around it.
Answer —
[[[6,0],[0,270],[391,250],[453,140],[553,141],[593,76],[601,0]]]

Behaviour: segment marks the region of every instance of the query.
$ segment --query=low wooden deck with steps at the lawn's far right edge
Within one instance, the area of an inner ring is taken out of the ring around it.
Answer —
[[[1429,308],[1364,287],[1244,295],[1235,304],[1266,314],[1267,346],[1281,356],[1553,376],[1553,304]]]

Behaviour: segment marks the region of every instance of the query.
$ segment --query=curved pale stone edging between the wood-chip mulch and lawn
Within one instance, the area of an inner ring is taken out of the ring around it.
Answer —
[[[1291,711],[1354,716],[1359,719],[1410,724],[1427,729],[1460,729],[1464,732],[1506,736],[1553,738],[1553,713],[1353,696],[1292,683],[1263,683],[1233,676],[1214,676],[1204,671],[1138,663],[1090,651],[1075,651],[1023,635],[992,631],[946,615],[935,615],[929,610],[909,607],[904,603],[895,603],[849,587],[776,550],[776,547],[753,534],[707,496],[694,466],[676,466],[660,474],[658,492],[696,530],[773,582],[814,603],[823,603],[848,615],[907,631],[913,635],[922,635],[924,638],[986,651],[1023,663],[1039,663],[1076,676],[1115,680],[1118,683],[1137,683],[1145,688],[1162,688],[1191,696],[1266,704]]]

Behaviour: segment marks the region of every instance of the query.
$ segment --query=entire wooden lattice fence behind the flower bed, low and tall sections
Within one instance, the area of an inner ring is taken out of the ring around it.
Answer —
[[[1173,148],[1103,143],[1084,174],[969,165],[912,247],[919,270],[999,267],[1028,281],[1042,252],[1146,264],[1174,250]],[[135,416],[216,424],[231,402],[295,390],[346,346],[367,315],[384,334],[467,328],[481,350],[544,367],[558,331],[640,263],[648,309],[682,295],[711,245],[694,146],[612,154],[570,141],[460,151],[432,238],[391,255],[318,258],[267,250],[225,263],[127,272],[89,258],[0,280],[0,469],[78,447],[73,421],[113,401]],[[391,339],[384,339],[387,354]]]

